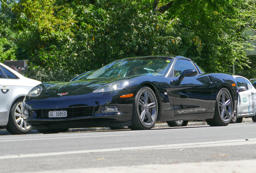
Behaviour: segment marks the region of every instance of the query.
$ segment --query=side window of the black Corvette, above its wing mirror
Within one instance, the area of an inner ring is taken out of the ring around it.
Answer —
[[[173,72],[171,72],[171,76],[179,77],[184,70],[196,70],[196,68],[190,60],[178,59],[175,62]]]

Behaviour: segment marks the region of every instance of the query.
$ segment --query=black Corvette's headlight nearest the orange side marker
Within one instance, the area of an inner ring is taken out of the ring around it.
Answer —
[[[128,84],[129,84],[129,80],[119,80],[116,82],[111,82],[109,84],[105,84],[102,87],[99,87],[98,89],[93,91],[93,93],[101,93],[101,92],[124,89],[125,87],[127,87]]]

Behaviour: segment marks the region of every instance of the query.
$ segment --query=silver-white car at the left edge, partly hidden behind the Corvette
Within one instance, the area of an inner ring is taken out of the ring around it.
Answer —
[[[40,81],[26,78],[0,63],[0,128],[12,134],[25,134],[31,126],[24,122],[21,107],[24,97]]]

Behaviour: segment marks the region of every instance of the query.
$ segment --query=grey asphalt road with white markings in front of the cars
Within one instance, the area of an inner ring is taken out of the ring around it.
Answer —
[[[0,136],[0,172],[255,173],[256,123]]]

